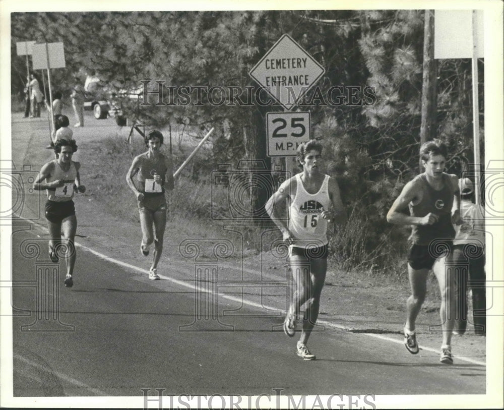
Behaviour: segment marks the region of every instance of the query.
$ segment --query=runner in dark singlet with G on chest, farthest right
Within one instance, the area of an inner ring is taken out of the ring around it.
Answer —
[[[387,213],[387,220],[398,225],[412,225],[410,239],[413,244],[408,255],[411,296],[406,302],[404,344],[411,354],[418,353],[415,321],[425,300],[427,275],[432,269],[441,293],[439,312],[443,341],[439,361],[453,364],[455,275],[452,269],[445,269],[443,256],[446,255],[439,250],[448,251],[447,258],[453,257],[453,224],[460,224],[462,220],[458,178],[444,172],[447,155],[447,146],[438,139],[422,144],[420,158],[425,171],[405,185]]]

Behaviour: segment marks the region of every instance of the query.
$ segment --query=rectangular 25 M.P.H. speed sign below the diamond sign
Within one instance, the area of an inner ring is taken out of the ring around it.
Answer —
[[[266,114],[268,156],[294,156],[299,144],[310,137],[309,112],[268,112]]]

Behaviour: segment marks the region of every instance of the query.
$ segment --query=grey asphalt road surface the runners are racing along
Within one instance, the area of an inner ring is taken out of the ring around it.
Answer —
[[[87,121],[115,128],[111,119]],[[13,123],[15,164],[39,165],[29,148],[44,126]],[[37,206],[23,212],[29,217]],[[64,263],[48,261],[46,248],[43,220],[13,225],[14,396],[141,396],[142,388],[177,395],[485,393],[482,365],[440,365],[337,328],[314,332],[309,347],[317,360],[303,361],[296,338],[281,330],[281,306],[242,303],[254,295],[232,287],[218,296],[211,281],[204,292],[194,280],[150,281],[142,268],[92,252],[104,252],[99,247],[77,249],[75,285],[65,288]],[[184,261],[174,260],[173,269],[194,276]]]

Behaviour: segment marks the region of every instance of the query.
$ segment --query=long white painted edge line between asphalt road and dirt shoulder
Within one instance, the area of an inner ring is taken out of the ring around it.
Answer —
[[[33,223],[37,224],[38,226],[40,226],[42,228],[45,228],[43,225],[41,225],[41,224],[39,224],[37,222],[33,222]],[[149,271],[147,269],[139,268],[138,266],[134,266],[134,265],[131,265],[129,263],[118,261],[116,259],[110,258],[109,256],[103,255],[102,253],[97,252],[97,251],[95,251],[95,250],[93,250],[91,248],[88,248],[87,246],[81,245],[81,244],[79,244],[77,242],[75,242],[75,245],[76,245],[76,247],[82,248],[83,250],[91,252],[92,254],[94,254],[94,255],[98,256],[99,258],[104,259],[104,260],[106,260],[106,261],[108,261],[110,263],[113,263],[113,264],[116,264],[116,265],[119,265],[119,266],[122,266],[122,267],[130,268],[130,269],[136,270],[136,271],[141,272],[141,273],[145,273],[145,274],[149,273]],[[273,308],[271,306],[265,306],[265,305],[261,305],[259,303],[247,301],[245,298],[241,298],[240,299],[240,298],[235,298],[233,296],[221,294],[219,292],[214,292],[214,291],[206,289],[206,288],[195,286],[195,285],[193,285],[191,283],[186,283],[186,282],[183,282],[183,281],[178,280],[178,279],[173,279],[173,278],[171,278],[169,276],[159,275],[159,277],[163,278],[164,280],[170,280],[171,282],[176,283],[178,285],[191,288],[193,290],[197,290],[197,291],[202,291],[202,292],[209,293],[209,294],[218,295],[219,297],[222,297],[224,299],[228,299],[228,300],[233,301],[233,302],[243,303],[244,305],[253,306],[255,308],[268,309],[268,310],[272,310],[272,311],[281,311],[283,313],[286,313],[285,310],[282,310],[282,309],[277,309],[277,308]],[[331,328],[340,329],[340,330],[347,330],[348,329],[348,327],[346,327],[346,326],[337,325],[335,323],[327,322],[325,320],[318,320],[317,323],[318,324],[326,325],[326,326],[331,327]],[[376,334],[376,333],[360,333],[360,334],[361,335],[366,335],[366,336],[371,336],[371,337],[376,337],[376,338],[379,338],[379,339],[382,339],[382,340],[386,340],[386,341],[391,341],[391,342],[394,342],[394,343],[403,344],[402,340],[393,339],[392,337],[383,336],[381,334]],[[433,352],[433,353],[436,353],[436,354],[439,353],[438,349],[434,349],[434,348],[431,348],[431,347],[423,347],[423,346],[420,346],[420,347],[423,350],[426,350],[427,352]],[[456,358],[458,360],[461,360],[461,361],[464,361],[464,362],[468,362],[468,363],[472,363],[472,364],[475,364],[475,365],[486,366],[485,362],[481,362],[481,361],[474,360],[474,359],[471,359],[471,358],[466,358],[464,356],[456,356]]]

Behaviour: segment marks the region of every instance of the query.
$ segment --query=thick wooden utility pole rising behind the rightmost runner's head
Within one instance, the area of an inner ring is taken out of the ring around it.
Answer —
[[[437,62],[434,60],[434,10],[425,10],[424,18],[420,145],[436,137],[437,115]],[[423,172],[421,160],[419,166],[420,172]]]

